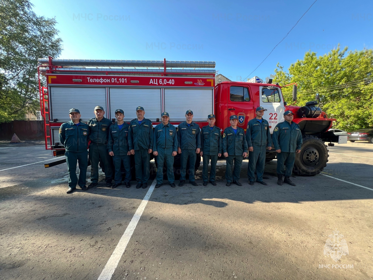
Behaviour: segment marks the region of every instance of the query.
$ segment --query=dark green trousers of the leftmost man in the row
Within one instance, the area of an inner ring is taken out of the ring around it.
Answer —
[[[79,187],[85,186],[85,180],[87,178],[87,167],[88,167],[88,151],[84,152],[65,152],[66,163],[68,164],[69,173],[69,187],[72,189],[76,188],[76,184]],[[76,162],[79,163],[79,181],[76,177]]]

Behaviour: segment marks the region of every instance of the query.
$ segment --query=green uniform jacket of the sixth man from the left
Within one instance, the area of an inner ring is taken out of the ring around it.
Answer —
[[[176,130],[176,134],[178,134],[178,147],[181,150],[201,149],[201,130],[195,122],[192,122],[189,127],[186,121],[182,122]]]

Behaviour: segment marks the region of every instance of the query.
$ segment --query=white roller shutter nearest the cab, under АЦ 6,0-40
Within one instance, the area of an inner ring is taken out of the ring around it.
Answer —
[[[213,89],[164,89],[164,111],[170,114],[170,121],[185,121],[187,110],[193,111],[193,121],[206,121],[213,113]]]

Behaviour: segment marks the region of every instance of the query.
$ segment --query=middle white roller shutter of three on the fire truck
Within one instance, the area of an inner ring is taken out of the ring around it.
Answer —
[[[115,110],[124,111],[124,121],[137,118],[136,107],[144,107],[145,118],[156,121],[161,115],[160,88],[110,88],[110,115],[115,118]]]

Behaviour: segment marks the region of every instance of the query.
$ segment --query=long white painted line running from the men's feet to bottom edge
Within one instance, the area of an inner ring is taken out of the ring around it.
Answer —
[[[149,198],[151,194],[153,193],[156,183],[157,183],[157,179],[154,179],[144,199],[141,201],[140,206],[137,208],[134,214],[134,217],[132,217],[131,222],[129,222],[128,227],[126,228],[125,232],[120,238],[117,246],[115,247],[112,255],[109,258],[109,261],[107,261],[104,267],[104,270],[101,272],[97,280],[110,280],[112,278],[113,273],[120,261],[120,258],[122,258],[124,250],[126,249],[128,245],[129,239],[131,239],[131,236],[135,231],[137,223],[141,218],[142,212],[144,212],[145,206],[147,205]]]

